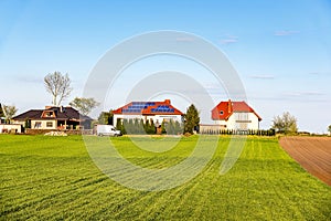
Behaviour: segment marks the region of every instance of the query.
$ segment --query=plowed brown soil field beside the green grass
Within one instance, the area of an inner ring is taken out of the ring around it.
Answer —
[[[308,172],[331,186],[331,137],[281,137],[279,143]]]

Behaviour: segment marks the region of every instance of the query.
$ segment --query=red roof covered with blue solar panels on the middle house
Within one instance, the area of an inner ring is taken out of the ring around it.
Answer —
[[[183,115],[183,113],[171,105],[170,99],[164,102],[131,102],[118,109],[114,114],[124,115]]]

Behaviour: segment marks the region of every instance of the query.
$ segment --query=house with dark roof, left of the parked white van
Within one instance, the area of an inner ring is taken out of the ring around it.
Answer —
[[[90,128],[92,118],[79,114],[73,107],[46,106],[44,109],[30,109],[12,118],[14,124],[30,125],[31,129],[79,129]]]

